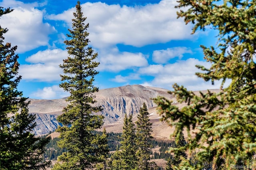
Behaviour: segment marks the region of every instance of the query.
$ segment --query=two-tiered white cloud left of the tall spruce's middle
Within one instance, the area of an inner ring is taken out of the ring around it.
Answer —
[[[62,49],[38,51],[38,53],[26,59],[31,64],[20,66],[19,74],[22,75],[23,80],[42,82],[60,80],[62,69],[59,64],[62,64],[62,60],[67,56],[67,51]]]

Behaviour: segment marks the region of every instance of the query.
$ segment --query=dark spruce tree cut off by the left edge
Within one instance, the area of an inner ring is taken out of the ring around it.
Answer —
[[[0,7],[0,17],[10,12],[10,8]],[[0,169],[45,169],[51,164],[42,158],[50,137],[40,139],[31,133],[36,117],[28,113],[28,98],[17,89],[19,57],[17,46],[4,43],[7,31],[0,25]]]

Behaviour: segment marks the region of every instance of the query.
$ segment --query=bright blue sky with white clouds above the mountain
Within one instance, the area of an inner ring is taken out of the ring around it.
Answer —
[[[76,0],[0,0],[14,9],[0,18],[7,27],[5,41],[17,45],[18,90],[25,97],[58,99],[68,96],[59,87],[59,67],[68,57],[68,29],[72,29]],[[210,67],[200,45],[215,46],[213,29],[192,32],[192,24],[177,19],[176,0],[80,0],[89,23],[89,46],[98,53],[94,86],[99,89],[141,84],[173,90],[177,83],[188,90],[220,88],[204,82],[195,65]]]

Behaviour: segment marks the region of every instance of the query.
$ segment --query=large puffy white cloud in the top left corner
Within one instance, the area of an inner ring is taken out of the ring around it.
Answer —
[[[0,24],[9,29],[4,35],[5,41],[17,45],[16,52],[23,53],[48,45],[48,35],[56,30],[49,23],[43,23],[44,11],[34,8],[40,4],[4,0],[0,5],[14,8],[13,12],[1,17]]]

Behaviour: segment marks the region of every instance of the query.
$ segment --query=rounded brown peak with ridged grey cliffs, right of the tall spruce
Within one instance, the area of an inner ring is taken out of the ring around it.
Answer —
[[[102,106],[105,124],[122,120],[125,113],[136,115],[145,102],[147,107],[155,107],[152,98],[171,97],[168,90],[141,85],[122,86],[100,90],[96,95],[96,106]]]

